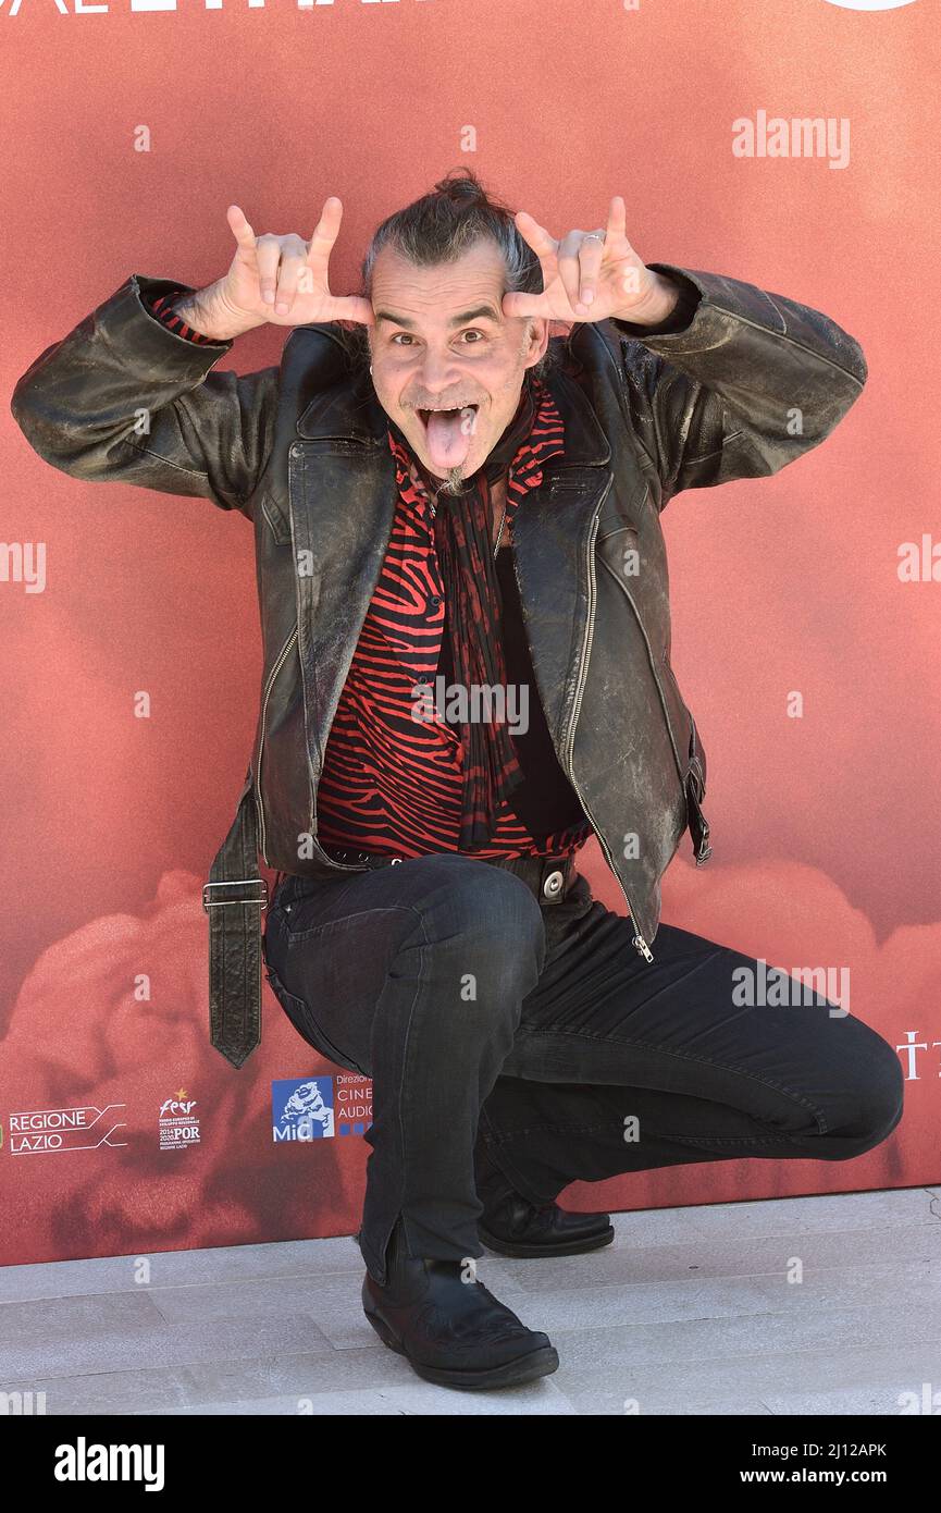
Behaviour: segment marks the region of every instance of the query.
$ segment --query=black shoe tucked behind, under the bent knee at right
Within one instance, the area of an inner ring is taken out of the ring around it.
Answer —
[[[475,1153],[477,1194],[484,1212],[477,1233],[499,1256],[581,1256],[614,1239],[607,1213],[569,1213],[555,1203],[536,1206],[516,1192],[486,1148]]]

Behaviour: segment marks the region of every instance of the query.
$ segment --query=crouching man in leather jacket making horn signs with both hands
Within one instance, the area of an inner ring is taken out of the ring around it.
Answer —
[[[818,445],[867,369],[815,310],[643,263],[620,197],[555,241],[458,171],[383,222],[348,297],[340,213],[307,242],[230,206],[222,278],[132,275],[12,410],[74,477],[253,520],[265,681],[204,893],[212,1039],[241,1065],[259,1038],[260,852],[284,873],[269,982],[374,1079],[366,1315],[419,1375],[508,1386],[558,1356],[477,1280],[481,1238],[589,1251],[613,1230],[557,1206],[572,1180],[846,1160],[902,1115],[871,1027],[746,1008],[758,962],[660,924],[685,831],[711,850],[660,513]],[[295,328],[278,366],[210,372],[265,321]],[[578,871],[589,835],[625,915]]]

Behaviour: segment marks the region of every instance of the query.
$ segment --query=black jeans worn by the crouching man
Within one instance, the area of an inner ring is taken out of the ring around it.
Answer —
[[[457,853],[283,881],[269,982],[309,1044],[372,1077],[357,1239],[377,1282],[399,1213],[413,1256],[483,1254],[478,1141],[543,1204],[682,1162],[849,1160],[896,1129],[899,1058],[837,996],[788,977],[773,1006],[753,958],[661,923],[648,962],[631,934],[582,876],[543,905]]]

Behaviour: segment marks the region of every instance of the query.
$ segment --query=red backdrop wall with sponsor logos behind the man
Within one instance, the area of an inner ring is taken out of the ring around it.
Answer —
[[[697,871],[684,838],[663,917],[785,970],[849,968],[852,1012],[900,1047],[905,1118],[853,1162],[679,1167],[566,1201],[941,1180],[935,0],[77,3],[0,11],[8,396],[130,272],[222,274],[228,203],[309,236],[339,194],[342,292],[378,219],[460,162],[555,235],[623,194],[648,262],[746,278],[862,342],[868,386],[825,446],[664,514],[714,856]],[[832,123],[829,148],[737,153],[761,112]],[[224,366],[283,340],[242,337]],[[0,446],[0,1260],[349,1233],[368,1147],[356,1118],[340,1138],[342,1098],[362,1089],[333,1089],[333,1139],[275,1142],[272,1080],[339,1068],[268,985],[242,1071],[207,1041],[200,888],[259,696],[251,531],[54,472],[8,405]],[[44,545],[42,581],[11,543]],[[587,870],[622,909],[596,849]]]

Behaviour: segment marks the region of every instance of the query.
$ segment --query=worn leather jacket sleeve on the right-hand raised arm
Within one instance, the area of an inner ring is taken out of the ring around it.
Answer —
[[[610,324],[660,508],[682,489],[779,472],[858,399],[862,348],[829,316],[722,274],[648,266],[679,284],[678,309],[660,327]]]

